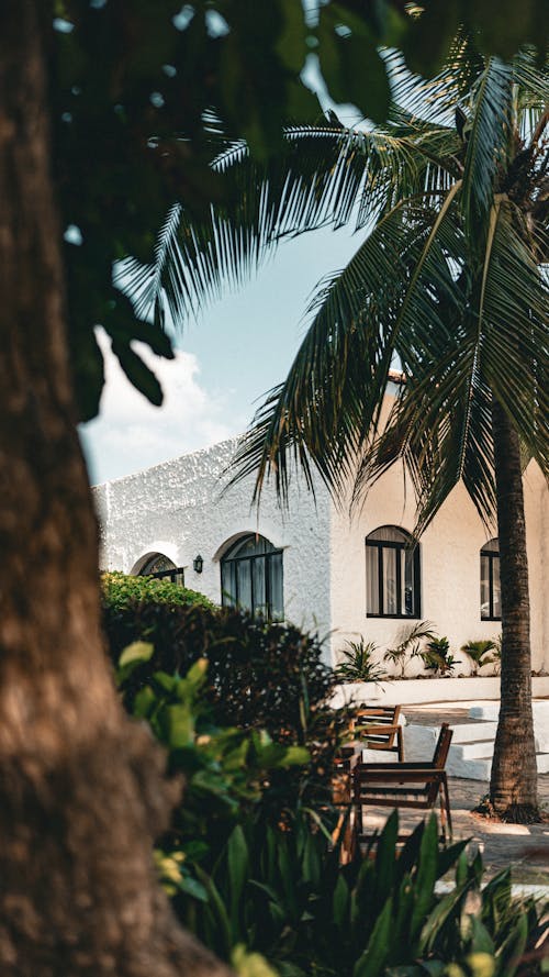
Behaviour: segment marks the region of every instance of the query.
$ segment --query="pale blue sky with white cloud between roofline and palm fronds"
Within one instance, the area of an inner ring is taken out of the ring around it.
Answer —
[[[262,395],[285,377],[315,286],[347,263],[359,240],[343,229],[285,242],[239,292],[227,290],[184,324],[175,360],[142,347],[165,391],[161,408],[131,387],[100,336],[105,389],[99,417],[81,429],[92,484],[243,432]]]

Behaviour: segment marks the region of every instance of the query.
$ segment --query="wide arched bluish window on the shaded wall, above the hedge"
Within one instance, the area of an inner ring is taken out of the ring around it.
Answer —
[[[282,621],[282,551],[254,533],[237,540],[221,560],[221,599],[224,607]]]

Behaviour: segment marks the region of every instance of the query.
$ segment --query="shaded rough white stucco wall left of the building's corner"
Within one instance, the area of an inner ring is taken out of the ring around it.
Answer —
[[[144,556],[164,553],[184,567],[188,587],[220,603],[220,556],[235,536],[258,532],[284,551],[287,619],[324,636],[330,626],[326,491],[318,487],[315,504],[294,479],[289,511],[281,510],[266,489],[259,513],[250,509],[251,479],[222,495],[227,480],[223,473],[236,443],[226,441],[94,488],[102,525],[101,566],[137,571]],[[204,560],[200,575],[192,569],[199,553]]]

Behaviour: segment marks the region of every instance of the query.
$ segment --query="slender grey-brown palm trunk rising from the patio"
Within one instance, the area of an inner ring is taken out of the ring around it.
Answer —
[[[495,398],[492,428],[500,539],[502,675],[490,800],[500,817],[524,822],[538,817],[526,525],[518,435]]]

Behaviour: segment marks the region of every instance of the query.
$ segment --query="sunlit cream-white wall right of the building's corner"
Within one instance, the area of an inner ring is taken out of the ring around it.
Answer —
[[[525,508],[529,562],[533,668],[549,670],[548,647],[548,493],[539,468],[530,465],[525,475]],[[337,652],[347,639],[362,635],[383,651],[396,644],[399,630],[405,621],[368,618],[366,612],[366,536],[382,525],[396,525],[411,532],[414,528],[415,500],[401,467],[393,467],[372,487],[362,511],[349,520],[347,511],[333,511],[330,537],[332,626],[333,646]],[[460,665],[468,674],[470,666],[460,647],[469,640],[495,637],[501,633],[497,621],[480,617],[480,549],[496,535],[479,519],[464,487],[459,485],[422,536],[421,590],[423,620],[435,624],[446,635]],[[392,670],[386,663],[383,667]],[[407,675],[421,670],[421,659],[413,659]]]

